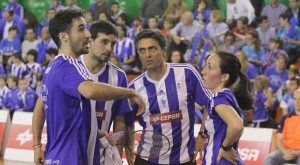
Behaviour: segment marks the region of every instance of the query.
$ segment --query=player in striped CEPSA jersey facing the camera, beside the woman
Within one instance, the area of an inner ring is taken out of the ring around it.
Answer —
[[[147,70],[129,83],[146,102],[146,111],[139,117],[139,124],[145,130],[165,135],[171,148],[164,155],[146,158],[151,156],[153,145],[139,143],[137,154],[143,157],[136,157],[135,164],[196,164],[192,162],[195,102],[206,105],[211,97],[210,91],[204,89],[203,80],[193,66],[164,61],[166,41],[160,31],[141,31],[136,36],[136,47]]]

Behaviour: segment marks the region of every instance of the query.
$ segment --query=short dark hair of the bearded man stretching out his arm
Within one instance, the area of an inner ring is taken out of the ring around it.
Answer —
[[[52,37],[53,41],[57,45],[58,48],[61,46],[61,41],[58,37],[58,34],[61,32],[69,33],[72,23],[74,19],[79,19],[80,17],[83,18],[83,11],[79,9],[66,9],[60,10],[57,12],[50,20],[49,23],[49,31],[50,36]]]

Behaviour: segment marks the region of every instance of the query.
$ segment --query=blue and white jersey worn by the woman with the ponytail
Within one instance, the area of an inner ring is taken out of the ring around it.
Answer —
[[[225,104],[231,106],[236,110],[238,115],[243,118],[243,114],[239,105],[235,99],[234,94],[229,89],[223,89],[212,95],[212,99],[207,104],[208,116],[205,121],[205,132],[207,133],[207,147],[204,149],[204,158],[202,160],[202,165],[220,164],[220,165],[231,165],[227,159],[222,158],[219,163],[217,163],[217,157],[221,145],[226,137],[227,124],[222,120],[222,118],[215,112],[214,107],[220,104]],[[238,162],[237,165],[243,165],[239,153],[238,153],[238,141],[234,142],[233,148],[237,151]]]

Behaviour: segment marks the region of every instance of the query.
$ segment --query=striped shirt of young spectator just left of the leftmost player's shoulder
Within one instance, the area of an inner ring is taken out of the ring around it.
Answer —
[[[34,72],[36,73],[41,73],[41,66],[39,63],[32,63],[32,64],[29,64],[27,63],[26,64],[26,68],[27,68],[27,72],[28,74],[25,76],[25,78],[27,78],[29,81],[28,81],[28,84],[29,86],[34,89],[36,87],[36,82],[37,82],[37,76],[35,74],[33,74],[31,72],[31,70],[33,70]]]

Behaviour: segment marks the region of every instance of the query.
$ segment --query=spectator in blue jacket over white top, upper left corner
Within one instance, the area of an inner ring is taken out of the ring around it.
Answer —
[[[13,10],[4,10],[4,18],[0,20],[0,39],[8,38],[8,30],[10,27],[16,26],[18,28],[17,38],[22,39],[25,35],[24,21],[15,16]]]

